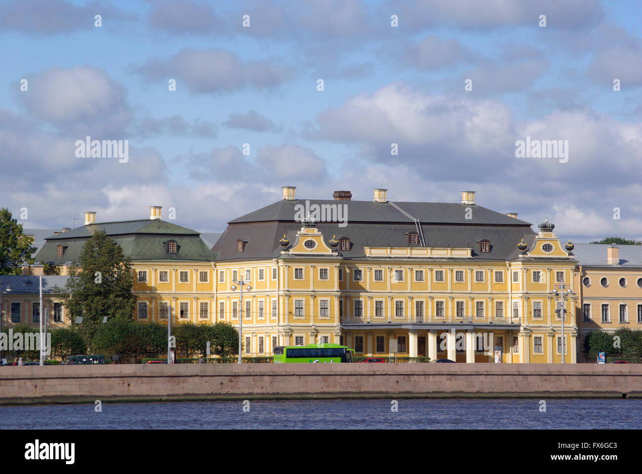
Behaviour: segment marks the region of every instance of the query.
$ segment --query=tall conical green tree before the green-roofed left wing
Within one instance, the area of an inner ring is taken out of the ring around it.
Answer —
[[[94,233],[73,262],[61,296],[72,316],[72,328],[78,329],[87,346],[91,347],[103,317],[132,319],[136,303],[133,286],[131,263],[121,246],[105,232]],[[77,316],[83,317],[78,328]]]

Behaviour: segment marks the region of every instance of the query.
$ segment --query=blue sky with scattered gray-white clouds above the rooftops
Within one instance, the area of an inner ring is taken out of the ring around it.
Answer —
[[[641,17],[635,0],[0,1],[0,206],[60,228],[158,205],[217,232],[281,186],[472,189],[565,240],[642,240]],[[128,162],[76,157],[86,136],[128,140]],[[517,158],[526,136],[568,140],[568,162]]]

